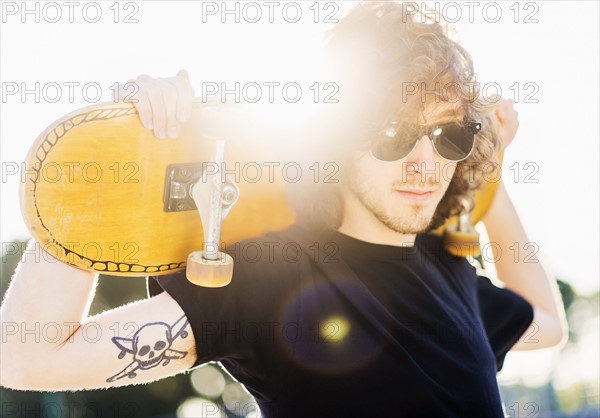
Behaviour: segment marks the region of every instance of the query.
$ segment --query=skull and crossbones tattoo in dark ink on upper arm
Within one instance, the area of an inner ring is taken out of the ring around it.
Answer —
[[[171,360],[180,359],[187,354],[171,348],[173,342],[178,338],[186,338],[188,332],[185,327],[188,321],[185,315],[179,318],[173,325],[164,322],[151,322],[138,329],[132,338],[113,337],[111,340],[121,349],[119,358],[125,354],[133,354],[133,361],[114,376],[109,377],[107,382],[129,377],[133,379],[137,370],[147,370],[158,366],[169,364]]]

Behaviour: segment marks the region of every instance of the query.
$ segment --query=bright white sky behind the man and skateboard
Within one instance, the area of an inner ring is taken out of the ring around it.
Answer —
[[[353,3],[227,2],[232,12],[223,14],[222,2],[3,1],[2,242],[28,236],[13,173],[54,120],[109,100],[118,82],[181,68],[197,95],[235,81],[296,82],[301,108],[314,93],[309,87],[327,82],[313,64],[319,33]],[[467,3],[437,7],[456,21],[486,91],[499,88],[516,102],[521,127],[505,156],[507,188],[539,255],[579,292],[593,292],[599,288],[598,2]],[[24,89],[39,97],[22,97]],[[275,100],[282,95],[275,90]]]

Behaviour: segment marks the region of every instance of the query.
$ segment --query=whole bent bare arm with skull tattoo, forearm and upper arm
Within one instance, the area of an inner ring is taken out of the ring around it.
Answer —
[[[0,385],[43,391],[107,388],[150,382],[195,363],[192,329],[170,295],[163,292],[88,317],[96,283],[95,273],[47,254],[35,258],[30,251],[23,257],[1,308]],[[160,353],[159,361],[148,360],[154,351],[135,351],[137,338]]]

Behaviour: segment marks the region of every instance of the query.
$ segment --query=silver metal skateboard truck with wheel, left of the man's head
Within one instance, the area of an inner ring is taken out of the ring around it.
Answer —
[[[227,286],[233,276],[233,259],[219,251],[219,243],[223,221],[237,202],[239,188],[222,176],[224,157],[225,141],[217,140],[212,160],[212,166],[216,166],[217,170],[205,170],[200,179],[190,186],[190,195],[202,220],[204,240],[202,251],[188,255],[186,276],[198,286]]]

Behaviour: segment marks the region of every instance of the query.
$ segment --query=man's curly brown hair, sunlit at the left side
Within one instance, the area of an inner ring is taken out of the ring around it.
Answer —
[[[449,115],[481,122],[475,148],[457,164],[428,230],[473,208],[486,165],[494,161],[499,148],[494,104],[480,96],[471,56],[453,37],[440,13],[424,12],[415,3],[369,1],[354,7],[326,39],[335,74],[344,86],[340,90],[343,112],[327,116],[333,125],[343,126],[326,134],[338,161],[365,145],[364,131],[357,126],[380,129],[398,117],[423,115],[425,101],[431,102],[431,98],[423,100],[423,92],[426,98],[433,95],[436,107]],[[299,219],[339,227],[342,201],[337,185],[322,184],[313,192],[317,198],[307,199],[303,193],[294,202]]]

